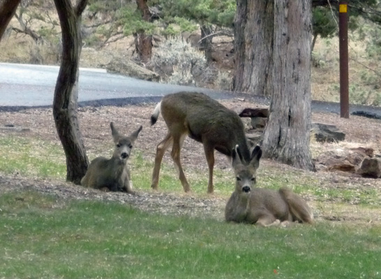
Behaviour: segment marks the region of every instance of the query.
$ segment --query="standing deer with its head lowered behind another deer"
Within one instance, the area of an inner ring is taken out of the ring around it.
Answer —
[[[151,115],[151,125],[159,114],[167,123],[168,133],[156,149],[151,187],[158,188],[160,165],[167,148],[172,144],[172,159],[179,171],[185,192],[191,190],[180,162],[180,150],[186,135],[204,146],[209,167],[208,193],[213,193],[214,149],[232,157],[232,150],[239,145],[242,156],[250,160],[244,125],[238,114],[203,93],[179,92],[163,97]]]

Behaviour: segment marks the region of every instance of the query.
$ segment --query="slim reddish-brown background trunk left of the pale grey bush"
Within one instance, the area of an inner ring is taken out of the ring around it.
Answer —
[[[151,22],[151,12],[147,5],[147,0],[137,0],[137,9],[142,13],[142,18],[146,22]],[[144,30],[134,34],[135,49],[139,55],[140,61],[147,63],[152,56],[152,36],[147,35]]]

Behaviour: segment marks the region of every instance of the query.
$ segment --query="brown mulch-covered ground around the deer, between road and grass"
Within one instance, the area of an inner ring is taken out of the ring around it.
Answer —
[[[236,112],[245,107],[258,107],[255,103],[246,100],[230,100],[221,102]],[[110,156],[112,140],[110,135],[110,121],[114,121],[121,133],[129,133],[140,124],[143,130],[135,143],[137,149],[142,150],[144,158],[154,160],[156,145],[166,133],[165,123],[161,119],[154,126],[149,125],[151,112],[156,104],[131,105],[126,107],[82,107],[79,111],[80,128],[90,158],[95,156]],[[314,156],[329,149],[339,149],[343,146],[371,147],[375,154],[381,154],[381,121],[367,119],[361,116],[351,116],[350,119],[341,119],[337,114],[313,114],[313,121],[334,124],[345,134],[345,142],[335,144],[319,144],[311,142]],[[12,124],[13,128],[4,128]],[[23,130],[24,129],[24,130]],[[23,137],[36,137],[60,144],[54,127],[51,109],[30,109],[20,112],[0,112],[0,137],[14,133]],[[1,151],[0,151],[1,153]],[[182,163],[190,169],[200,169],[200,174],[207,176],[207,164],[204,158],[202,145],[187,139],[182,149]],[[170,163],[170,156],[166,154],[164,160]],[[364,179],[353,174],[337,172],[305,172],[293,167],[276,163],[271,160],[261,160],[262,175],[271,175],[267,169],[276,167],[279,174],[297,172],[301,178],[308,177],[320,182],[322,188],[336,187],[343,190],[348,188],[371,188],[381,193],[381,179]],[[230,165],[225,156],[216,153],[216,169],[227,169]],[[233,182],[232,182],[233,183]],[[143,211],[163,214],[186,214],[197,218],[216,218],[223,220],[223,211],[227,197],[211,195],[200,197],[194,194],[167,194],[137,189],[136,195],[125,193],[103,193],[74,186],[71,183],[54,180],[41,180],[22,177],[19,174],[0,173],[0,193],[10,190],[35,189],[41,193],[49,193],[59,198],[111,200],[130,204]],[[233,189],[232,189],[233,190]],[[205,186],[205,193],[207,186]],[[315,197],[304,197],[315,211],[317,220],[358,221],[361,223],[381,223],[381,209],[364,209],[356,204],[342,204],[338,209],[334,200],[318,202]]]

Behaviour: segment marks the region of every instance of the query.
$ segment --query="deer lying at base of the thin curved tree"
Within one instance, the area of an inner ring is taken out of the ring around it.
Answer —
[[[81,180],[81,185],[100,190],[133,193],[127,160],[142,126],[128,137],[120,135],[114,127],[114,123],[111,122],[110,127],[115,143],[114,154],[111,159],[98,157],[92,160],[89,169]]]

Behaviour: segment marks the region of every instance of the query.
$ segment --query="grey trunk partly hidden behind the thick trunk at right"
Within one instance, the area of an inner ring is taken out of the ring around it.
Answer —
[[[237,0],[234,19],[234,92],[271,96],[274,1]]]

